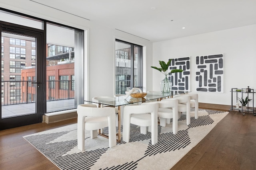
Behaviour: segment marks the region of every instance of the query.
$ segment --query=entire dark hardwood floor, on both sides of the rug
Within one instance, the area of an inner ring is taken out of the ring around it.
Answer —
[[[76,123],[38,123],[0,131],[0,170],[58,170],[23,136]],[[199,132],[200,133],[200,132]],[[255,170],[256,117],[230,111],[172,170]]]

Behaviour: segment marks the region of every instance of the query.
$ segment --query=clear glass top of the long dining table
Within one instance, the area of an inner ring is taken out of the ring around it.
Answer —
[[[162,98],[170,98],[172,96],[178,94],[185,94],[189,91],[180,91],[180,90],[172,90],[170,93],[162,93],[162,92],[148,92],[144,98],[132,98],[128,96],[124,98],[124,96],[114,96],[108,98],[100,98],[98,102],[93,102],[92,100],[84,100],[84,102],[90,102],[95,104],[103,104],[108,106],[123,106],[127,104],[139,103],[139,102],[146,102],[150,100],[158,100]]]

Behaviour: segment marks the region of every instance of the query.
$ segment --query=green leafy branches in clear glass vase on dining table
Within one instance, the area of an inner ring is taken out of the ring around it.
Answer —
[[[169,73],[183,71],[182,69],[172,69],[170,72],[168,72],[168,67],[170,66],[171,61],[172,59],[169,59],[167,63],[165,63],[164,61],[159,61],[161,68],[151,66],[152,68],[155,68],[156,70],[160,71],[162,74],[165,75],[164,80],[162,80],[160,83],[162,93],[170,93],[172,90],[172,82],[167,78],[167,75],[169,75]]]

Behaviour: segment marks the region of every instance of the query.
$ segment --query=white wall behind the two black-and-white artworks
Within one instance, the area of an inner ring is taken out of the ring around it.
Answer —
[[[153,66],[159,66],[159,60],[190,56],[190,87],[196,92],[196,56],[214,54],[224,54],[224,93],[198,92],[199,102],[231,105],[231,88],[250,86],[256,91],[256,25],[153,43]],[[160,90],[163,78],[153,71],[153,90]]]

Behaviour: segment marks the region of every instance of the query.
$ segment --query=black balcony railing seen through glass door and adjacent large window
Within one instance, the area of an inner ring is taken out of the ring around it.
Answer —
[[[36,101],[35,81],[2,81],[2,106]],[[74,99],[74,80],[46,81],[46,101]]]

